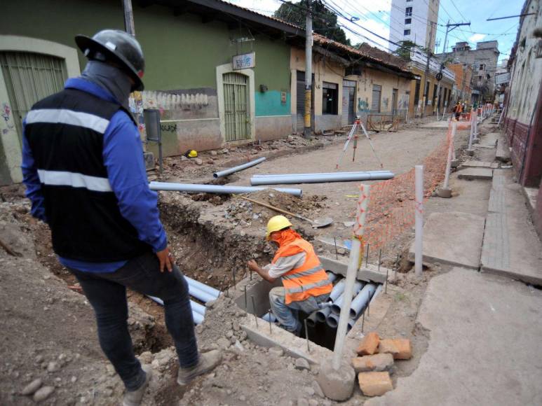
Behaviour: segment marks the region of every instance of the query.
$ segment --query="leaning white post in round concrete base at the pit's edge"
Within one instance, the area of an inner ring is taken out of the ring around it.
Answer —
[[[344,303],[339,315],[339,325],[337,326],[337,335],[335,335],[335,346],[333,349],[333,369],[339,370],[341,366],[342,353],[344,348],[344,339],[348,330],[348,316],[350,314],[350,304],[355,285],[355,276],[358,274],[361,260],[361,239],[365,232],[365,218],[367,217],[367,205],[369,204],[370,186],[360,186],[360,199],[356,208],[354,237],[352,239],[352,248],[350,250],[350,260],[346,269],[346,286],[344,288]]]

